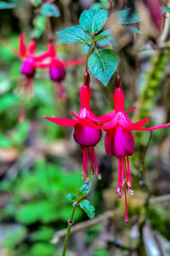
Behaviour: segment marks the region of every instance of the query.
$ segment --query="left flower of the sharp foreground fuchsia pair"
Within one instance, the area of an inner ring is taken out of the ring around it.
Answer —
[[[105,122],[105,116],[98,118],[90,110],[89,103],[91,91],[88,84],[88,82],[83,84],[82,89],[80,90],[81,109],[78,115],[71,112],[73,116],[76,117],[76,119],[62,119],[54,117],[45,118],[56,123],[57,125],[74,127],[74,139],[82,148],[82,177],[88,179],[89,155],[92,174],[96,173],[100,179],[101,175],[99,173],[99,166],[94,152],[94,147],[97,143],[99,143],[102,136],[102,132],[98,129],[91,128],[90,126],[95,125],[96,127],[98,127],[98,122]]]

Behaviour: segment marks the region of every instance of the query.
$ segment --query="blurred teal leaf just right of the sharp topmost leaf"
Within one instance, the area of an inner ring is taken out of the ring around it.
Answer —
[[[116,15],[121,24],[133,24],[141,21],[139,15],[131,8],[122,9],[116,12]]]

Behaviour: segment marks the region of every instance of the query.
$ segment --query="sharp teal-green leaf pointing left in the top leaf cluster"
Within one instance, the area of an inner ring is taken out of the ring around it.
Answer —
[[[82,43],[88,44],[88,35],[84,32],[82,26],[71,26],[57,32],[59,43]]]

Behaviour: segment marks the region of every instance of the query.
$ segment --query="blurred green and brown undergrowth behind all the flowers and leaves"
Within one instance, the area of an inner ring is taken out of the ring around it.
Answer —
[[[42,53],[47,49],[48,24],[46,20],[35,21],[37,8],[31,2],[15,0],[14,8],[0,10],[1,38],[18,49],[20,34],[26,32],[28,42],[36,26],[40,33],[37,53]],[[59,17],[50,18],[56,43],[55,32],[77,25],[83,9],[109,8],[107,0],[54,4],[60,11]],[[170,120],[170,48],[167,44],[153,49],[150,42],[147,38],[143,50],[133,55],[133,60],[138,59],[135,67],[127,49],[122,49],[120,73],[126,109],[137,106],[129,117],[134,121],[150,112],[149,125],[159,125]],[[61,60],[85,55],[79,44],[56,47]],[[22,123],[18,121],[22,97],[16,90],[20,64],[0,43],[0,255],[59,256],[64,242],[59,230],[65,229],[71,215],[71,202],[65,195],[77,195],[83,183],[82,150],[73,141],[71,128],[54,125],[43,116],[71,118],[70,110],[78,113],[85,64],[66,68],[66,102],[56,98],[48,71],[38,71],[34,98],[27,100]],[[114,107],[113,79],[105,87],[91,78],[91,88],[94,113],[110,111]],[[105,154],[104,137],[96,147],[103,178],[98,181],[93,177],[89,195],[99,221],[93,224],[92,220],[91,226],[86,226],[88,217],[77,209],[75,224],[85,224],[71,236],[67,255],[170,255],[170,129],[134,132],[136,150],[130,158],[134,195],[127,200],[128,224],[124,223],[124,201],[116,197],[117,160]]]

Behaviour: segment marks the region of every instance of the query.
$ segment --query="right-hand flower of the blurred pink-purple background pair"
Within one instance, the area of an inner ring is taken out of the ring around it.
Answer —
[[[66,66],[73,66],[81,63],[86,60],[86,57],[82,57],[75,61],[60,61],[57,56],[55,45],[53,42],[48,44],[48,54],[50,61],[48,63],[42,63],[39,65],[40,68],[49,68],[49,77],[57,85],[57,96],[65,101],[65,88],[62,84],[62,81],[65,79],[66,75]]]

